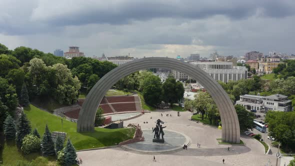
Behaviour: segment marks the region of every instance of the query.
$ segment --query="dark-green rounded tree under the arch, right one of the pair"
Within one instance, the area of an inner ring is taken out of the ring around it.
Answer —
[[[177,102],[183,97],[184,88],[181,82],[177,81],[172,76],[168,78],[163,83],[163,99],[166,103],[170,103],[171,106],[173,103]]]

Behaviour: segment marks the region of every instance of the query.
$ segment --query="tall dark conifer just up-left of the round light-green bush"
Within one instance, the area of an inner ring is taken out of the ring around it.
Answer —
[[[16,145],[21,147],[22,139],[25,135],[29,134],[31,130],[30,122],[28,121],[26,115],[22,112],[18,123],[16,124]]]

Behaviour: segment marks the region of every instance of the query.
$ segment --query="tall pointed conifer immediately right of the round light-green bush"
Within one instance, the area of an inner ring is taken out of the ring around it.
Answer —
[[[55,155],[54,143],[47,124],[41,141],[41,151],[43,155]]]

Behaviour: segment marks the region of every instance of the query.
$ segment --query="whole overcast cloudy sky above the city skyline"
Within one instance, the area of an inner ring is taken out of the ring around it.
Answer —
[[[0,0],[0,43],[86,56],[295,53],[295,0]]]

